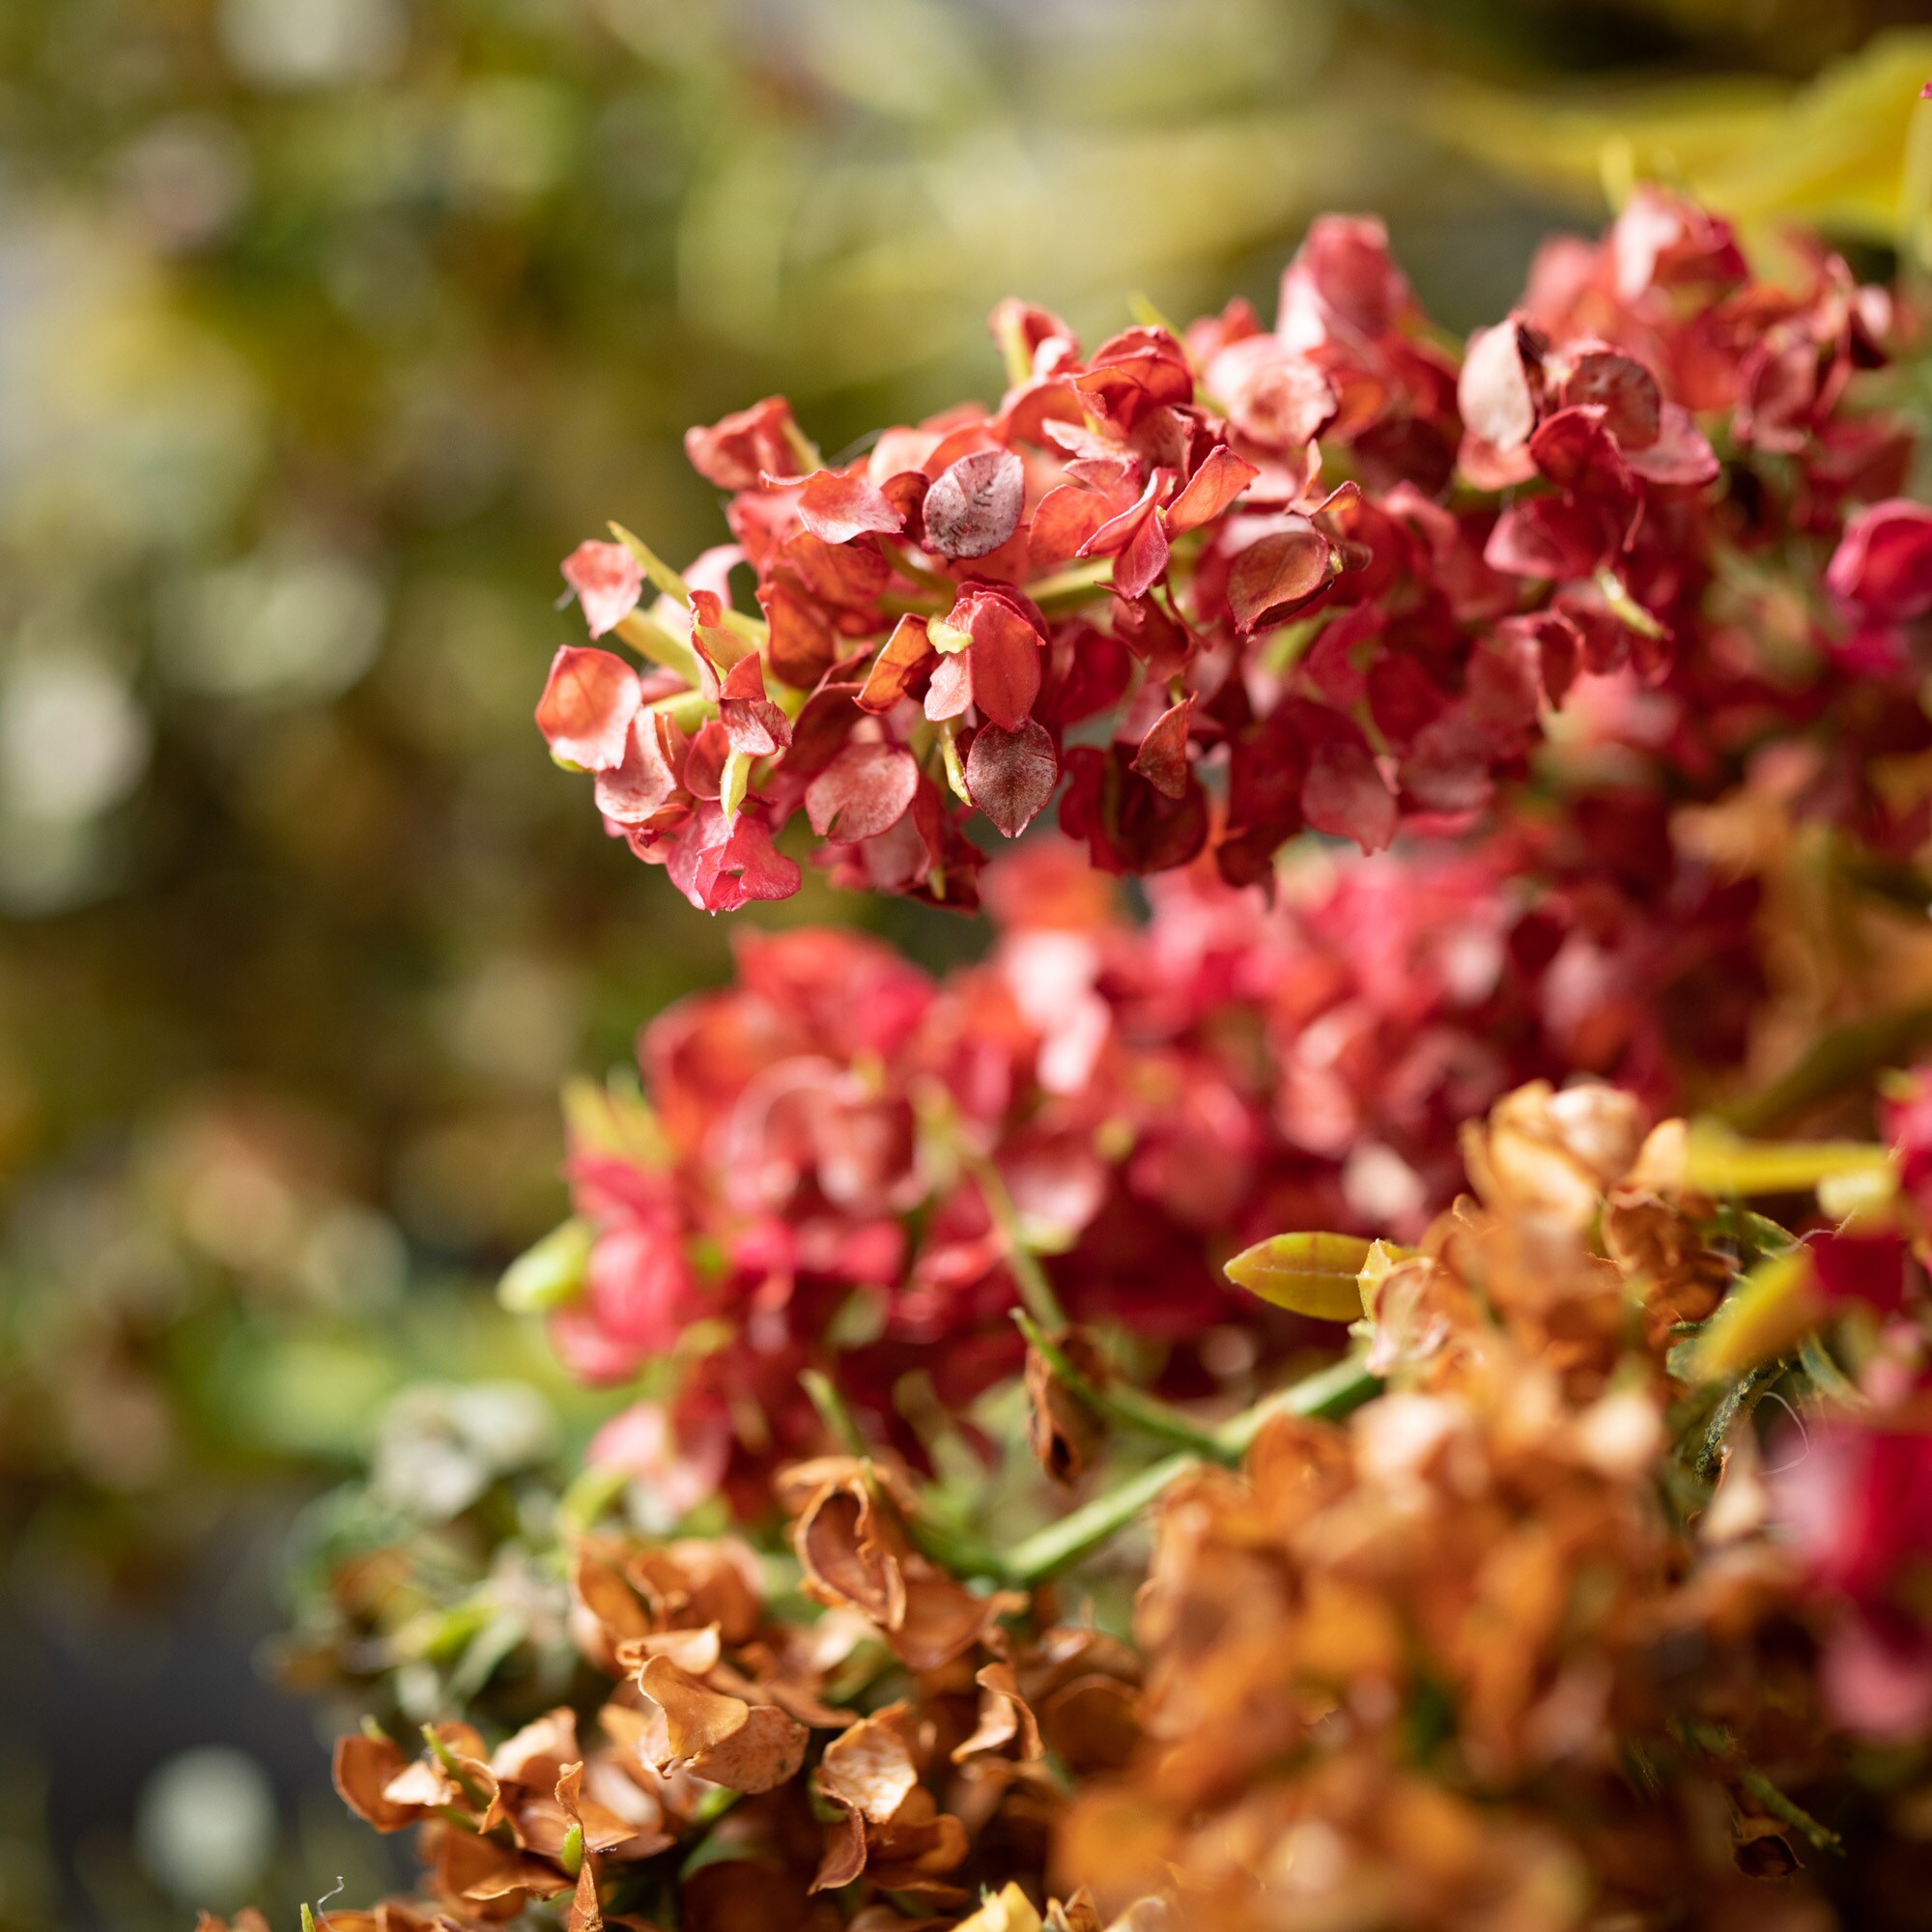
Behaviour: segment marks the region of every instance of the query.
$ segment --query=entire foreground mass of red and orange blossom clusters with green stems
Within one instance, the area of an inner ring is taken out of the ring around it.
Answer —
[[[1273,328],[1007,303],[997,408],[767,400],[732,545],[574,553],[612,835],[993,945],[738,933],[568,1094],[504,1298],[632,1399],[321,1565],[425,1859],[336,1932],[1915,1922],[1920,321],[1795,259],[1644,189],[1457,352],[1329,218]]]

